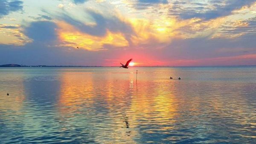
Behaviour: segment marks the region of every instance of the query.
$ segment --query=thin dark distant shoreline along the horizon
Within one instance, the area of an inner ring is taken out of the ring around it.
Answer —
[[[256,66],[256,65],[252,65],[252,66]],[[26,65],[18,65],[18,64],[5,64],[5,65],[0,65],[0,67],[119,67],[119,66],[47,66],[47,65],[26,66]],[[204,66],[132,66],[132,67],[204,67]]]

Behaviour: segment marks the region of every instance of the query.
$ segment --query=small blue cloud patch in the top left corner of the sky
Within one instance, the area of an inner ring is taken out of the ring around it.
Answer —
[[[11,12],[23,9],[23,1],[20,0],[0,0],[0,18]]]

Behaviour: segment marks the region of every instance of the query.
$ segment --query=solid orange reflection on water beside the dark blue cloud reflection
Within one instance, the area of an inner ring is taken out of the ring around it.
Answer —
[[[93,101],[95,95],[93,95],[93,77],[90,73],[86,75],[63,73],[60,81],[61,93],[58,105],[61,113],[74,114],[84,101]]]

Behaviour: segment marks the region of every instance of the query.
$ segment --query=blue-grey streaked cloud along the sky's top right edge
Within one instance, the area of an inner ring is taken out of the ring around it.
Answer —
[[[201,6],[204,6],[204,9],[202,9],[202,7],[195,6],[200,5],[199,3],[194,3],[193,5],[193,3],[180,3],[176,1],[173,3],[175,6],[170,10],[170,14],[177,15],[182,19],[201,18],[203,20],[210,20],[217,17],[227,16],[231,14],[233,10],[241,9],[241,7],[250,5],[254,2],[256,2],[256,0],[226,0],[223,2],[213,0],[210,1],[209,6],[201,4]],[[224,5],[222,3],[224,3]],[[189,7],[184,7],[185,4],[188,4]],[[214,7],[214,9],[211,7]]]

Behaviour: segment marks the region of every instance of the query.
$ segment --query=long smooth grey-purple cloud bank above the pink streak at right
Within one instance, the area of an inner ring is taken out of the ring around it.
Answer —
[[[244,55],[244,52],[256,54],[254,42],[255,34],[229,38],[207,38],[197,37],[188,39],[175,39],[166,46],[158,55],[163,57],[163,61],[169,58],[175,59],[206,59],[218,57],[231,57]],[[239,49],[239,50],[238,50]],[[232,61],[230,61],[232,63]],[[221,63],[219,63],[221,64]]]

